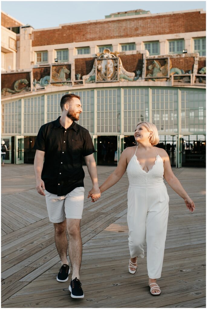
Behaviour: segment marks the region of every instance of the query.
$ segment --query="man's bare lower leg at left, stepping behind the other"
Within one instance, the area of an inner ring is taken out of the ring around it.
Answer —
[[[68,247],[68,242],[67,242],[67,235],[66,235],[66,229],[67,229],[67,223],[66,219],[63,222],[60,223],[53,223],[54,224],[54,229],[55,229],[55,244],[56,248],[58,250],[58,254],[60,256],[62,265],[67,264],[67,247]]]

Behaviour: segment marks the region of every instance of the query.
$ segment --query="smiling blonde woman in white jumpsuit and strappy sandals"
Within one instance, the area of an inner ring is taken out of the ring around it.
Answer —
[[[129,228],[129,272],[137,269],[137,256],[144,258],[147,242],[147,269],[152,295],[160,295],[156,279],[161,277],[164,256],[169,196],[163,176],[170,187],[184,199],[190,212],[195,210],[192,199],[173,174],[170,159],[164,149],[154,147],[159,142],[155,125],[140,122],[136,126],[136,146],[126,148],[115,171],[100,186],[101,193],[116,184],[125,171],[129,179],[127,223]],[[97,200],[91,190],[88,197]]]

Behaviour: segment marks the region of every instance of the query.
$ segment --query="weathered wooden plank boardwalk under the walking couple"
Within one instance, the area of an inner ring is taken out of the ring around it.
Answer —
[[[85,197],[91,188],[85,170]],[[114,167],[97,167],[101,184]],[[173,169],[196,205],[190,214],[167,185],[170,213],[160,297],[149,294],[146,256],[128,273],[127,188],[125,174],[91,203],[81,220],[83,258],[80,279],[85,298],[74,300],[56,281],[60,259],[45,198],[35,189],[32,165],[2,167],[2,307],[157,308],[205,307],[205,169]],[[146,246],[145,246],[146,252]]]

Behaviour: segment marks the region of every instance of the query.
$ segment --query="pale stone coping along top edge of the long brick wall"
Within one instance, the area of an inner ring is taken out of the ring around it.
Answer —
[[[75,22],[75,23],[63,23],[63,24],[59,24],[59,26],[57,26],[57,27],[40,28],[40,29],[34,29],[32,31],[34,32],[34,31],[54,30],[54,29],[61,29],[64,26],[79,25],[79,24],[86,24],[86,23],[109,22],[109,21],[114,21],[114,20],[154,17],[154,16],[161,16],[161,15],[181,14],[181,13],[190,13],[190,12],[201,12],[201,14],[206,13],[206,11],[204,11],[203,9],[194,9],[194,10],[186,10],[186,11],[172,11],[172,12],[165,12],[165,13],[131,15],[131,16],[123,16],[123,17],[113,17],[113,18],[105,18],[105,19],[86,20],[86,21]]]

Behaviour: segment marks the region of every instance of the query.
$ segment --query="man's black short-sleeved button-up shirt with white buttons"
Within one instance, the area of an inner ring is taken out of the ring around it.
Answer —
[[[82,156],[96,150],[87,129],[74,121],[65,129],[59,119],[41,126],[34,149],[45,151],[41,174],[45,189],[62,196],[84,187]]]

